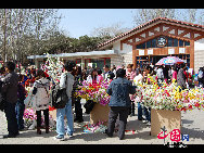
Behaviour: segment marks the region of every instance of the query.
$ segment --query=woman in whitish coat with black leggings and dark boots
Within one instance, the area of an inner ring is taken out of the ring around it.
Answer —
[[[37,114],[37,133],[41,135],[41,111],[44,115],[46,133],[49,133],[49,94],[50,80],[46,78],[42,69],[37,71],[36,81],[34,82],[31,106]]]

